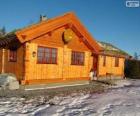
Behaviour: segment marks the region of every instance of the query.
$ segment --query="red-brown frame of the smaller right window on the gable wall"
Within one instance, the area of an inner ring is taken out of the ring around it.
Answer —
[[[78,55],[83,55],[83,60],[82,60],[82,63],[80,63],[80,58],[78,58],[79,56]],[[74,60],[77,60],[77,61],[74,61]],[[85,52],[79,52],[79,51],[71,51],[71,65],[77,65],[77,66],[84,66],[85,64]]]

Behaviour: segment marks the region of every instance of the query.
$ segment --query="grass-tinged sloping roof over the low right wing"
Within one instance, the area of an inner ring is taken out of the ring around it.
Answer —
[[[102,54],[114,55],[114,56],[125,56],[125,57],[130,56],[127,52],[121,50],[120,48],[118,48],[114,45],[112,45],[111,43],[98,41],[98,44],[103,49],[103,51],[101,52]]]

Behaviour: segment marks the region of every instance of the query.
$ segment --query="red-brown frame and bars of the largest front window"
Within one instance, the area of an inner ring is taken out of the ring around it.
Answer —
[[[41,52],[41,53],[43,53],[43,57],[42,57],[42,61],[39,61],[38,60],[38,57],[39,57],[39,48],[42,48],[43,49],[43,52]],[[49,57],[48,59],[49,59],[49,62],[47,62],[47,60],[45,60],[47,57],[46,57],[46,54],[47,54],[47,52],[46,52],[46,49],[48,49],[49,50],[49,56],[51,56],[51,57]],[[55,62],[53,62],[52,61],[52,50],[53,49],[55,49]],[[38,46],[37,47],[37,64],[57,64],[57,52],[58,52],[58,49],[57,48],[53,48],[53,47],[45,47],[45,46]]]

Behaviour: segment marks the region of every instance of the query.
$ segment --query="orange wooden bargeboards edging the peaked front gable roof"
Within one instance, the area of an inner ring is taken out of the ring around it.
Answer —
[[[54,19],[42,21],[38,24],[19,30],[15,34],[19,41],[24,43],[63,26],[69,26],[92,51],[98,53],[102,50],[74,13],[67,13]]]

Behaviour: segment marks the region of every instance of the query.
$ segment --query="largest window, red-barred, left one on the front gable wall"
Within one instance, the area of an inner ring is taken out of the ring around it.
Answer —
[[[37,62],[41,64],[56,64],[57,63],[57,49],[38,47]]]

